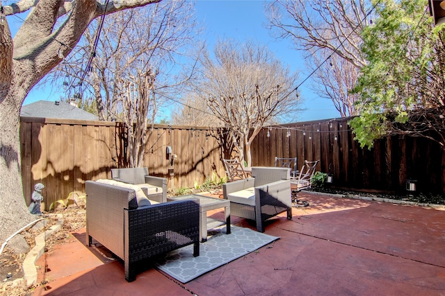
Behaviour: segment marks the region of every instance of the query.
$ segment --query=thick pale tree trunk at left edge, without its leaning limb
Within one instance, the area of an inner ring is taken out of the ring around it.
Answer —
[[[20,166],[19,120],[24,96],[13,89],[13,40],[0,26],[0,242],[31,220],[26,209]],[[23,76],[22,76],[23,77]]]

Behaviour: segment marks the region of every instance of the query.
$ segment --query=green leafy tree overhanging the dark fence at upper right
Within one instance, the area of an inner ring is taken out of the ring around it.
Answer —
[[[409,134],[444,146],[444,27],[432,27],[426,1],[375,3],[378,18],[362,34],[369,64],[354,89],[356,139],[371,147],[387,134]]]

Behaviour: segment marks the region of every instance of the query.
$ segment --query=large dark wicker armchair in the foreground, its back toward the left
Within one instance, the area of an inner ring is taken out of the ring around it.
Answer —
[[[136,193],[86,181],[86,244],[92,238],[124,261],[125,279],[136,279],[138,263],[193,244],[200,254],[200,206],[195,200],[138,207]]]

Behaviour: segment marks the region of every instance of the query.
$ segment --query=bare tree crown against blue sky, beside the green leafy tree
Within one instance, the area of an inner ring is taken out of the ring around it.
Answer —
[[[367,64],[360,33],[371,23],[370,10],[368,0],[278,0],[266,6],[270,28],[307,53],[309,67],[318,68],[314,90],[330,98],[341,116],[357,114],[357,95],[349,90]],[[327,58],[329,64],[322,65]]]

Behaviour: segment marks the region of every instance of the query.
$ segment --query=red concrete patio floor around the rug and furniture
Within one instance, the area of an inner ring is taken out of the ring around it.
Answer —
[[[49,282],[34,295],[445,295],[445,211],[299,198],[310,206],[266,226],[279,240],[187,284],[150,267],[128,283],[120,261],[86,247],[83,230],[38,260],[47,265],[40,281]],[[253,226],[234,216],[232,223]]]

